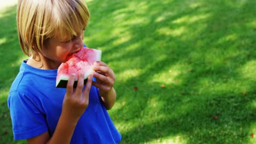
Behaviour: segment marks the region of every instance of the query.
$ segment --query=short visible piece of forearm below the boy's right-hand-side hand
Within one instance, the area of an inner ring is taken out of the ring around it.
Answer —
[[[107,110],[112,109],[112,107],[115,104],[115,99],[117,98],[117,93],[115,93],[115,89],[112,88],[109,92],[101,92],[99,90],[99,93],[101,95],[101,99],[104,102],[104,106]]]

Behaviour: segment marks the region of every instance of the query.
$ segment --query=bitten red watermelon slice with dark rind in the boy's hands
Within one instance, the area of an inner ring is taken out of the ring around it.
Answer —
[[[79,73],[84,73],[84,85],[88,76],[94,71],[92,65],[101,61],[101,51],[82,47],[78,52],[67,57],[65,63],[61,63],[57,71],[56,87],[66,88],[69,76],[75,74],[74,87],[77,87]]]

